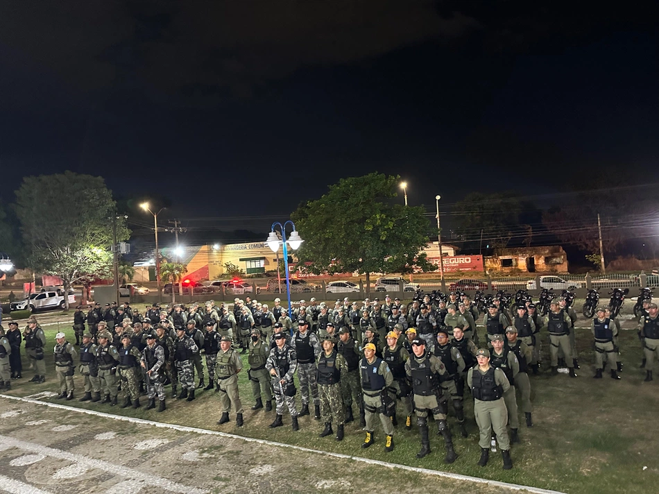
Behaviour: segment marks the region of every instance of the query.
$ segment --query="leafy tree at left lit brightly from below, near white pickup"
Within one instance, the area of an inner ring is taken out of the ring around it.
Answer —
[[[76,283],[110,277],[116,210],[103,178],[71,171],[26,177],[16,198],[28,266],[62,278],[65,292]],[[117,241],[129,236],[119,216]],[[68,298],[65,303],[68,309]]]

